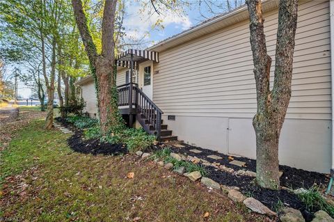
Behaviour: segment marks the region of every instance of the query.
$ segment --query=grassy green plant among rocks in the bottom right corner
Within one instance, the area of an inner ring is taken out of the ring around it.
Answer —
[[[307,191],[299,193],[298,197],[303,203],[305,203],[308,211],[316,212],[319,209],[322,209],[331,217],[334,217],[334,206],[327,203],[325,198],[321,196],[318,187],[312,186]]]

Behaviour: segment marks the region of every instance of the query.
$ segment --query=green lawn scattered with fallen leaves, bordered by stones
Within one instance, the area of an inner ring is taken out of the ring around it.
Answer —
[[[150,161],[73,152],[68,134],[43,123],[19,129],[1,152],[5,221],[270,221]]]

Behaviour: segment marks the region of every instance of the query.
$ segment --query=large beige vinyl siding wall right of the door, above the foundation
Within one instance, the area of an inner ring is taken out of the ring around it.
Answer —
[[[265,15],[275,64],[278,10]],[[287,118],[331,119],[329,1],[299,6],[292,98]],[[153,100],[165,115],[252,118],[256,112],[248,21],[159,54]]]

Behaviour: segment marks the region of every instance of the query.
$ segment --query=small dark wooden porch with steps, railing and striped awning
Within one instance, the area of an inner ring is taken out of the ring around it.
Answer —
[[[133,82],[134,72],[138,70],[140,63],[146,61],[159,63],[159,54],[156,51],[129,49],[116,58],[118,66],[129,68],[129,73],[126,76],[127,83],[117,87],[120,114],[129,127],[134,127],[134,123],[138,121],[145,132],[157,136],[159,141],[177,140],[177,136],[173,136],[172,130],[163,124],[161,117],[164,112],[152,101],[152,91],[150,96],[147,91],[144,93],[143,88]],[[148,74],[150,84],[152,84],[152,68],[149,70],[150,73],[145,74]]]

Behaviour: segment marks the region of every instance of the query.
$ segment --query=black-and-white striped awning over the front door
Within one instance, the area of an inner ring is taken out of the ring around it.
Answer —
[[[159,53],[157,51],[128,49],[116,56],[118,66],[130,68],[131,61],[134,61],[134,68],[143,61],[155,61],[159,63]]]

